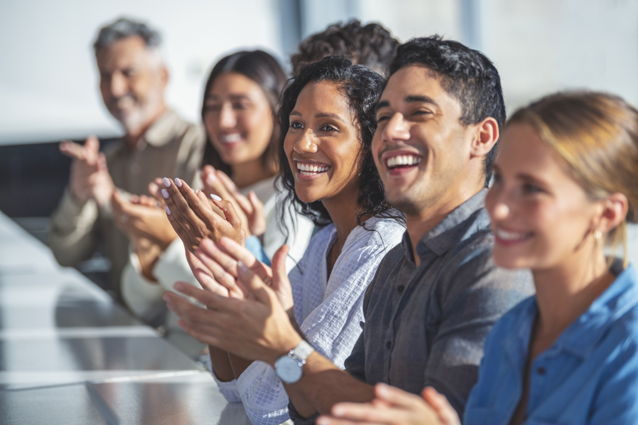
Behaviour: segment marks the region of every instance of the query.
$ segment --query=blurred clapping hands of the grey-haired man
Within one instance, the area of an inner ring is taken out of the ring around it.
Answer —
[[[100,152],[98,138],[89,136],[84,145],[63,141],[60,143],[60,152],[73,159],[69,179],[71,197],[81,205],[91,198],[99,206],[107,205],[115,185],[108,174],[107,160]]]

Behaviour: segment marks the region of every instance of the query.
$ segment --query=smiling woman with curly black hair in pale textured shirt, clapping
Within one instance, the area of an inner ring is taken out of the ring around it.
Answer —
[[[272,273],[285,280],[278,293],[290,321],[339,368],[361,333],[366,287],[404,231],[403,216],[385,201],[370,149],[382,86],[383,78],[371,69],[344,57],[329,57],[300,69],[279,111],[283,211],[296,208],[322,229],[288,275],[290,282],[281,265],[287,247],[274,257]],[[167,191],[171,188],[178,192],[172,184]],[[170,217],[183,209],[179,201],[167,203]],[[235,249],[242,251],[237,244]],[[249,254],[243,251],[246,261]],[[224,264],[219,250],[209,252],[216,253]],[[202,252],[196,255],[209,261]],[[215,280],[225,282],[224,273],[214,272],[219,266],[210,270]],[[195,273],[204,287],[207,280],[212,285],[201,271]],[[229,401],[244,403],[253,424],[288,419],[288,396],[272,368],[232,354],[229,364],[227,351],[210,350],[222,393]]]

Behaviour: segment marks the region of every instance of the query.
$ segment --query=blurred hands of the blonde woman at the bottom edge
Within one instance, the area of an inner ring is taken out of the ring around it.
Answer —
[[[386,384],[375,385],[371,403],[337,403],[318,425],[461,425],[443,394],[426,387],[421,397]]]

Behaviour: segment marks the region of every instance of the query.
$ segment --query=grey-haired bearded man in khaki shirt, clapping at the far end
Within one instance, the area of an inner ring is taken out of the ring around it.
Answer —
[[[84,146],[70,141],[60,145],[73,162],[68,189],[52,215],[48,245],[60,264],[75,266],[105,243],[112,263],[111,289],[119,299],[130,240],[112,220],[115,188],[144,194],[158,173],[195,184],[204,150],[200,127],[165,105],[168,71],[159,54],[160,41],[158,32],[126,18],[100,30],[94,43],[100,91],[125,134],[104,154],[94,137]],[[155,218],[165,221],[161,210]]]

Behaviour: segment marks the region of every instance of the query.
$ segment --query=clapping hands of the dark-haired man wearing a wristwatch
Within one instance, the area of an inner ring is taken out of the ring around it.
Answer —
[[[200,250],[197,250],[195,255],[204,268],[218,278],[209,275],[210,279],[200,280],[200,283],[205,288],[214,284],[214,290],[198,289],[184,282],[177,282],[175,290],[197,299],[207,308],[200,308],[180,296],[167,292],[164,299],[168,308],[181,318],[179,324],[186,333],[198,341],[227,350],[244,359],[274,364],[279,356],[295,347],[301,337],[290,322],[277,292],[260,277],[267,269],[258,264],[248,268],[243,261],[228,261],[228,258],[234,256],[243,256],[246,261],[250,261],[250,254],[242,252],[241,246],[227,238],[220,240],[221,247],[218,247],[218,251],[211,249],[212,245],[207,246],[207,242],[203,245],[203,248],[200,245]],[[277,264],[276,269],[283,268],[284,273],[285,251],[286,249],[280,250],[277,259],[274,260],[274,264]],[[202,255],[204,253],[205,256]],[[225,260],[222,259],[223,256],[227,256]],[[215,258],[224,265],[219,264]],[[223,273],[235,278],[239,291],[243,292],[242,296],[228,298],[219,295],[219,286],[228,285],[230,277],[224,277],[221,270],[212,271],[218,266],[223,269]],[[198,279],[202,274],[207,274],[204,270],[196,273],[199,275]],[[273,271],[274,275],[279,275],[279,271]]]

